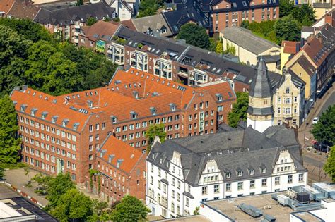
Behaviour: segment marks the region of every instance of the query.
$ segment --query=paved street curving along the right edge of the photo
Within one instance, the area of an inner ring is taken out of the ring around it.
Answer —
[[[309,182],[314,181],[330,181],[330,178],[325,175],[322,167],[324,166],[325,161],[327,160],[326,154],[314,151],[307,151],[307,147],[312,146],[313,136],[310,133],[312,129],[312,120],[315,116],[320,116],[322,111],[325,111],[328,106],[335,104],[335,90],[334,86],[329,88],[329,90],[324,94],[321,99],[318,99],[316,104],[313,106],[310,114],[304,123],[300,126],[298,130],[298,138],[300,144],[304,148],[302,150],[302,158],[304,161],[304,166],[309,171]]]

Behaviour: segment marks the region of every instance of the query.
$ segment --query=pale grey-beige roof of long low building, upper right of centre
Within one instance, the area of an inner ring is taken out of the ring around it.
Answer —
[[[253,54],[259,55],[264,51],[276,47],[278,51],[280,47],[264,38],[254,35],[252,31],[247,30],[243,27],[226,27],[223,30],[223,37],[228,39],[230,42],[234,42],[239,47],[252,52]]]

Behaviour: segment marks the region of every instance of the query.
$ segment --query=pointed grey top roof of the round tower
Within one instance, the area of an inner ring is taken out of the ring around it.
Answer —
[[[267,70],[265,61],[262,58],[259,59],[249,88],[249,96],[254,98],[272,97],[272,85]]]

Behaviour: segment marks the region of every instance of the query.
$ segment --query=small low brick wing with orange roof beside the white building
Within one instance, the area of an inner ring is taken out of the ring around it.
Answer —
[[[96,155],[95,167],[100,173],[92,178],[94,193],[100,186],[100,197],[105,201],[115,202],[124,195],[145,199],[146,154],[110,134]]]

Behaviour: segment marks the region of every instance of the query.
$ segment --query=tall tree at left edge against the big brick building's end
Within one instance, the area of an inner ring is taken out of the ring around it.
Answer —
[[[0,34],[1,35],[1,34]],[[8,95],[0,99],[0,164],[16,164],[20,150],[18,121],[13,101]]]

